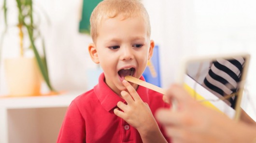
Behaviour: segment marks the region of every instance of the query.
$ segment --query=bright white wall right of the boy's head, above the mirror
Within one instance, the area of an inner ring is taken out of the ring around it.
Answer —
[[[152,38],[160,43],[163,87],[168,88],[175,81],[185,56],[248,52],[251,62],[242,108],[256,120],[256,1],[144,0],[144,3],[151,17]]]

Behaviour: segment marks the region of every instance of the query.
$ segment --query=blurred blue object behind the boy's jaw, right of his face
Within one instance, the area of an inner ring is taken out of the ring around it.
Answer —
[[[142,74],[146,82],[161,87],[160,63],[159,63],[159,47],[154,48],[153,56]]]

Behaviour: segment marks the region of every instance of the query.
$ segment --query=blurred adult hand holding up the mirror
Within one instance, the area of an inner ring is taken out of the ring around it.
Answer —
[[[172,143],[254,142],[256,127],[203,106],[181,86],[172,85],[167,96],[176,100],[177,110],[159,109],[156,118],[166,128]]]

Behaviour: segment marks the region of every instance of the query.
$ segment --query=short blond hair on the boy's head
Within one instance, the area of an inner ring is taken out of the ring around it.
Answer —
[[[147,35],[150,37],[149,16],[139,0],[103,0],[96,6],[90,17],[91,37],[94,42],[96,42],[98,37],[98,28],[102,20],[114,18],[118,15],[124,16],[124,19],[141,17],[145,25],[148,26]]]

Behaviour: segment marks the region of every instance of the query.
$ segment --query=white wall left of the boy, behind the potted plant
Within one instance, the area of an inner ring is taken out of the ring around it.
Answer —
[[[85,90],[89,82],[87,70],[96,65],[91,62],[87,45],[91,42],[88,35],[80,34],[79,21],[81,0],[33,0],[34,9],[40,15],[42,35],[46,41],[46,53],[50,78],[54,87],[60,91]],[[18,31],[16,23],[15,0],[7,0],[10,7],[9,20],[11,28],[5,36],[2,58],[18,54]],[[0,2],[2,5],[2,2]],[[50,20],[47,23],[45,12]],[[1,13],[2,14],[2,13]],[[35,21],[38,17],[35,16]],[[0,31],[3,31],[3,16],[0,16]],[[3,60],[2,60],[3,61]],[[0,94],[7,94],[4,81],[3,64],[1,64]]]

